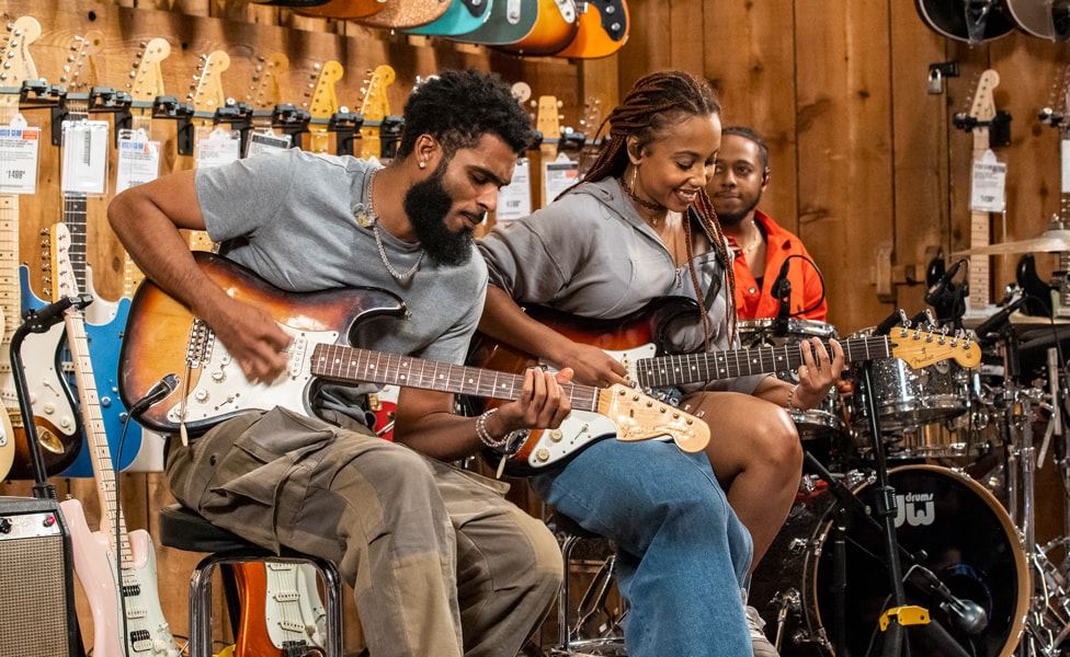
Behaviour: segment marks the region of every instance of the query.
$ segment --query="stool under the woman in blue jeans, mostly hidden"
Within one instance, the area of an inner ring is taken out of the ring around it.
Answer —
[[[565,578],[557,606],[558,645],[550,649],[550,657],[626,656],[622,623],[627,610],[616,613],[605,606],[616,583],[616,555],[612,549],[576,606],[576,623],[569,624],[569,611],[573,609],[569,583],[573,552],[584,541],[607,542],[608,539],[583,529],[568,516],[556,511],[549,525],[561,543],[565,562]]]

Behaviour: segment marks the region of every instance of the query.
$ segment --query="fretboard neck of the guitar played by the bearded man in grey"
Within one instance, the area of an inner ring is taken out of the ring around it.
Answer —
[[[342,383],[388,383],[498,400],[517,399],[524,385],[520,374],[326,343],[312,348],[311,373]],[[601,389],[573,383],[561,389],[573,408],[599,411]]]

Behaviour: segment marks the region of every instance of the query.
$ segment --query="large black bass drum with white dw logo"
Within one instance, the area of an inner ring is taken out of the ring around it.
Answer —
[[[875,508],[873,482],[860,483],[863,477],[857,473],[846,477],[845,485]],[[988,622],[979,632],[964,632],[940,608],[942,599],[920,575],[906,577],[906,603],[927,609],[967,654],[1009,657],[1024,629],[1029,576],[1025,552],[1006,511],[979,484],[945,468],[896,468],[888,481],[896,491],[900,545],[920,556],[920,565],[934,573],[952,595],[978,603]],[[754,572],[749,603],[765,619],[770,641],[779,641],[783,657],[832,655],[835,627],[843,629],[849,655],[879,655],[879,618],[891,606],[885,533],[857,514],[846,517],[844,618],[839,620],[831,593],[836,565],[833,516],[839,505],[824,482],[807,477],[802,483],[787,522]],[[904,575],[908,566],[904,561]],[[786,615],[777,637],[782,611]],[[908,654],[941,654],[918,629],[909,629],[906,636]]]

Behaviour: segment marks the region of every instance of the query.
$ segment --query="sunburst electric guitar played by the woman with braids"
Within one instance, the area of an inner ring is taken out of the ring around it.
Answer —
[[[578,343],[592,345],[617,358],[626,368],[626,378],[647,394],[653,389],[704,383],[748,374],[793,370],[802,365],[800,345],[756,347],[701,354],[665,355],[659,341],[674,322],[698,316],[697,304],[680,297],[651,301],[646,308],[618,320],[591,320],[543,307],[528,307],[533,319]],[[947,358],[963,367],[980,364],[981,349],[965,338],[902,330],[890,336],[858,337],[841,342],[847,361],[873,360],[892,356],[911,368],[923,368]],[[477,333],[468,364],[510,372],[522,372],[538,366],[538,359]],[[479,405],[475,405],[479,410]],[[686,408],[685,408],[686,410]],[[557,446],[588,442],[614,431],[602,417],[573,408],[561,426],[554,430],[533,430],[524,447],[509,458],[505,472],[530,474],[560,458]],[[493,454],[490,454],[493,456]]]

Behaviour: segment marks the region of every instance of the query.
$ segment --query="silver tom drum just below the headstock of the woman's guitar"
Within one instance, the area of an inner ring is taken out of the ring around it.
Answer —
[[[872,330],[866,330],[850,337],[870,334]],[[865,397],[858,385],[862,367],[862,362],[851,365],[855,382],[851,415],[854,429],[868,434]],[[911,369],[899,358],[878,358],[873,361],[872,372],[873,399],[880,416],[881,433],[914,429],[952,419],[968,408],[970,372],[952,359]]]

